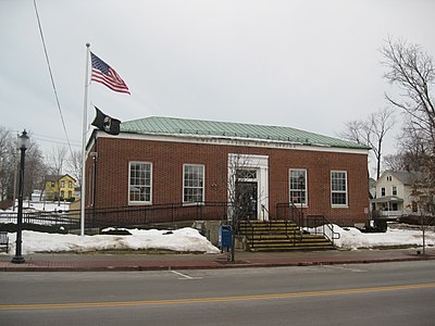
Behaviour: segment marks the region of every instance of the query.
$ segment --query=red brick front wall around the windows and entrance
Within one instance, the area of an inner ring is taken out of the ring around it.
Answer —
[[[184,163],[203,164],[206,201],[224,202],[227,200],[227,154],[240,153],[269,156],[269,206],[272,216],[277,203],[289,200],[289,168],[306,168],[309,203],[304,214],[323,214],[339,225],[365,223],[368,220],[364,214],[364,209],[369,206],[368,158],[364,154],[121,138],[98,138],[94,150],[98,152],[96,208],[128,204],[130,161],[152,163],[153,204],[182,202]],[[332,170],[347,171],[348,208],[331,206]]]

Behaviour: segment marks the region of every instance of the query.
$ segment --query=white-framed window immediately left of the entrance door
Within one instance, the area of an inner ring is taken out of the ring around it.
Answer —
[[[183,165],[183,202],[204,201],[204,166],[197,164]]]

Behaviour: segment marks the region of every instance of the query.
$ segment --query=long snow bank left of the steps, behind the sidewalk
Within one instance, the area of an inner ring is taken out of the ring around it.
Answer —
[[[172,250],[219,253],[220,250],[194,228],[177,230],[129,229],[130,236],[76,236],[23,230],[23,254],[35,252],[87,252],[99,250]],[[9,252],[15,252],[15,236],[9,234]]]

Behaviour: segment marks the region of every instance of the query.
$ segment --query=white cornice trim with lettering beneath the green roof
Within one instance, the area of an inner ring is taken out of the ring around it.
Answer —
[[[121,133],[120,135],[113,136],[104,131],[96,130],[96,137],[102,138],[116,138],[116,139],[135,139],[135,140],[150,140],[150,141],[170,141],[170,142],[185,142],[185,143],[207,143],[207,145],[226,145],[226,146],[241,146],[241,147],[260,147],[260,148],[273,148],[273,149],[293,149],[314,152],[333,152],[333,153],[352,153],[369,155],[366,149],[355,149],[355,148],[339,148],[328,147],[323,145],[303,145],[289,141],[278,140],[261,140],[261,139],[240,139],[240,138],[224,138],[224,137],[204,137],[204,136],[187,136],[187,135],[142,135],[142,134],[128,134]],[[92,139],[90,140],[90,146]]]

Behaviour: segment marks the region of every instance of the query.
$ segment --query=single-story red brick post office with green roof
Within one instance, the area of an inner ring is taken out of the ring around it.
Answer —
[[[117,136],[94,130],[88,152],[88,208],[227,202],[243,190],[253,220],[294,202],[339,225],[368,221],[369,149],[332,137],[154,116]]]

